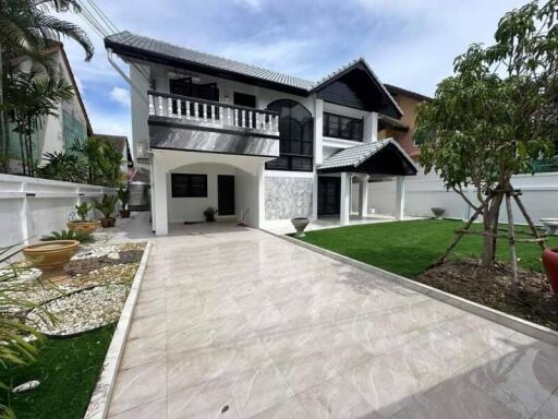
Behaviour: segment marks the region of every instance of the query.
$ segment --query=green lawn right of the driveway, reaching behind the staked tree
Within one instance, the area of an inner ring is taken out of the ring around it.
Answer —
[[[368,224],[310,231],[302,240],[414,278],[441,255],[454,237],[453,230],[463,225],[464,223],[447,219]],[[474,228],[480,230],[481,226],[475,225]],[[527,229],[521,226],[518,230],[526,231]],[[481,236],[465,236],[451,258],[480,256],[482,240]],[[558,238],[553,237],[547,243],[558,247]],[[509,260],[508,254],[506,241],[498,240],[498,259]],[[519,243],[518,258],[520,265],[542,271],[541,248],[537,244]]]

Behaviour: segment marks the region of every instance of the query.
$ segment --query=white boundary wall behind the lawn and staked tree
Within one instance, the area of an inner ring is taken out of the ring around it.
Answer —
[[[539,218],[558,217],[558,173],[518,175],[512,178],[512,185],[523,192],[521,200],[533,222],[541,225]],[[444,218],[469,219],[472,211],[456,192],[448,192],[444,182],[434,173],[405,178],[407,216],[432,217],[432,207],[441,207]],[[476,193],[473,188],[466,190],[473,203]],[[512,201],[513,202],[513,201]],[[395,214],[395,179],[368,183],[368,210],[379,214]],[[515,203],[512,203],[513,220],[526,224]],[[500,210],[500,222],[507,222],[506,207]]]

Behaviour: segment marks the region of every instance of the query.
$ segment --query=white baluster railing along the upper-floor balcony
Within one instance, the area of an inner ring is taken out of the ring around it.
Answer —
[[[147,92],[147,96],[149,116],[180,119],[208,128],[279,135],[279,115],[275,111],[154,91]]]

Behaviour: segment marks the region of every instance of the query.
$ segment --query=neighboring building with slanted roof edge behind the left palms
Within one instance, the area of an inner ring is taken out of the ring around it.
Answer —
[[[92,125],[85,110],[85,105],[75,82],[70,62],[61,43],[54,45],[49,51],[58,71],[70,83],[75,92],[71,100],[59,105],[58,117],[44,118],[39,131],[35,135],[33,152],[35,160],[40,164],[45,153],[61,152],[70,147],[75,140],[84,141],[93,134]],[[25,57],[12,61],[14,68],[21,71],[29,71],[33,61]],[[10,155],[13,171],[17,171],[21,158],[20,140],[17,133],[11,132]]]

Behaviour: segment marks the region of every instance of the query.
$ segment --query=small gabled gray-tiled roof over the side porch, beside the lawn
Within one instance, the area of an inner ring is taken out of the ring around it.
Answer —
[[[417,169],[409,155],[392,139],[356,145],[329,156],[318,167],[322,173],[357,172],[367,175],[414,176]]]

